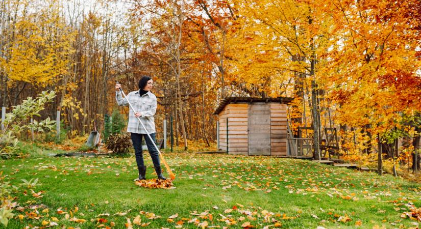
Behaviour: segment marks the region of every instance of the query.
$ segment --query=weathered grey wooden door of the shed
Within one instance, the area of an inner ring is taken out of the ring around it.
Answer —
[[[249,105],[249,155],[270,155],[270,105]]]

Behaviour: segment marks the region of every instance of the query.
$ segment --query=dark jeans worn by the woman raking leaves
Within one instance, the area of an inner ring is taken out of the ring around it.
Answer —
[[[152,137],[152,140],[155,141],[155,133],[149,134]],[[133,148],[135,149],[135,156],[136,156],[136,164],[137,167],[143,167],[143,150],[142,150],[142,137],[145,138],[147,150],[151,155],[152,162],[154,166],[160,166],[159,162],[159,155],[157,149],[155,149],[154,144],[151,142],[151,139],[147,136],[147,134],[138,134],[138,133],[130,133],[133,141]]]

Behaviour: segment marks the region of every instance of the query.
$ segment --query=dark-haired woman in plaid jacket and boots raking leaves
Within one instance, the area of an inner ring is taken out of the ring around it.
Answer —
[[[142,76],[142,78],[139,80],[139,91],[131,92],[126,96],[126,99],[123,99],[119,90],[121,88],[121,85],[118,83],[115,84],[115,99],[117,100],[117,104],[119,106],[127,105],[127,100],[129,100],[134,110],[136,111],[133,112],[132,109],[129,109],[129,123],[127,126],[127,132],[130,132],[130,136],[133,141],[137,168],[139,170],[139,180],[146,179],[146,166],[143,163],[142,137],[146,141],[147,150],[151,155],[155,171],[158,175],[158,179],[166,180],[166,178],[162,176],[158,151],[152,143],[151,139],[146,134],[147,131],[147,133],[151,135],[153,141],[155,141],[156,131],[154,115],[157,109],[157,97],[151,93],[151,89],[153,86],[154,81],[150,76]],[[137,117],[140,118],[146,130],[139,123]]]

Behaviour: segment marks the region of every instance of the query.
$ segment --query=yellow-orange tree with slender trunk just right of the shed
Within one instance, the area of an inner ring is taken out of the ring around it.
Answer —
[[[311,84],[309,106],[313,123],[313,155],[319,160],[320,111],[317,94],[320,76],[316,71],[327,49],[329,17],[320,10],[317,1],[237,4],[243,15],[243,27],[236,41],[240,51],[237,51],[238,57],[232,63],[236,66],[235,73],[249,84],[261,83],[263,91],[269,91],[269,85],[272,85],[273,92],[269,94],[276,96],[279,96],[281,85],[291,82],[289,78],[295,77],[294,81],[299,81],[299,77],[306,76],[306,84]],[[285,90],[289,95],[291,91]]]

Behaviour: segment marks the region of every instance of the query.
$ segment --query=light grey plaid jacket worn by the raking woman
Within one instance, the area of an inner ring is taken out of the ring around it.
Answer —
[[[134,91],[126,95],[126,98],[130,101],[136,112],[142,112],[142,116],[139,118],[145,126],[147,133],[155,133],[154,115],[157,110],[157,97],[151,92],[147,92],[140,97],[139,91]],[[117,100],[117,104],[119,106],[129,104],[127,99],[122,98],[120,91],[115,92],[115,99]],[[146,131],[135,117],[133,110],[129,108],[129,123],[127,125],[127,132],[146,134]]]

